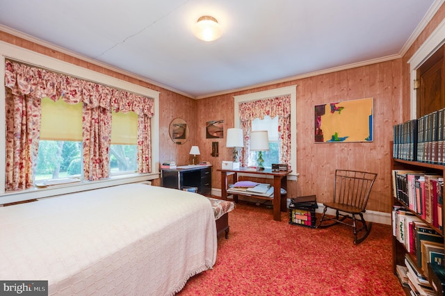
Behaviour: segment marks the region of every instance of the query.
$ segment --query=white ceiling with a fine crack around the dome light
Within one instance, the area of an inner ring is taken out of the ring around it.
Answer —
[[[0,0],[0,24],[200,98],[397,56],[443,1]]]

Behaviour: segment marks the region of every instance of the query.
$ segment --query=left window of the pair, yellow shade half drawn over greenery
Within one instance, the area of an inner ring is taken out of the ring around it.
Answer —
[[[34,181],[82,176],[82,104],[42,99]]]

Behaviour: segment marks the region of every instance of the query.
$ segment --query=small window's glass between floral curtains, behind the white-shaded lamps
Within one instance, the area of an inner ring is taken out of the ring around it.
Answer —
[[[278,139],[278,116],[270,118],[264,117],[264,120],[255,118],[252,120],[252,131],[268,131],[269,150],[262,151],[264,158],[264,167],[270,169],[273,163],[280,162],[280,142]],[[250,151],[249,165],[256,165],[259,151]]]

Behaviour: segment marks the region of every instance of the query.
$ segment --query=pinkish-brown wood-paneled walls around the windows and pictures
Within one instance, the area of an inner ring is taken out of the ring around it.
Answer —
[[[179,165],[191,163],[188,152],[192,145],[198,145],[201,151],[200,161],[210,161],[213,164],[213,188],[220,188],[220,175],[216,169],[221,167],[222,161],[232,159],[232,149],[225,148],[225,139],[206,138],[206,122],[224,120],[224,129],[227,131],[227,128],[234,126],[234,95],[297,85],[296,149],[297,171],[300,176],[298,181],[289,181],[289,195],[296,197],[315,194],[318,202],[325,202],[332,195],[332,176],[336,168],[366,170],[378,173],[368,209],[389,213],[389,143],[392,140],[392,126],[410,119],[410,73],[407,60],[444,17],[445,5],[442,5],[402,58],[197,101],[1,31],[0,40],[159,91],[160,161],[175,160]],[[374,99],[373,142],[314,143],[314,105],[366,97]],[[184,145],[175,145],[170,140],[168,126],[175,117],[186,120],[190,127],[191,138]],[[211,142],[219,144],[218,157],[211,156]],[[159,180],[154,184],[159,185]]]

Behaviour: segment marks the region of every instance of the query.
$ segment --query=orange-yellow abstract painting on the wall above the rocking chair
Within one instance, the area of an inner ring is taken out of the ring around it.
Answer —
[[[373,98],[314,108],[314,142],[372,142]]]

